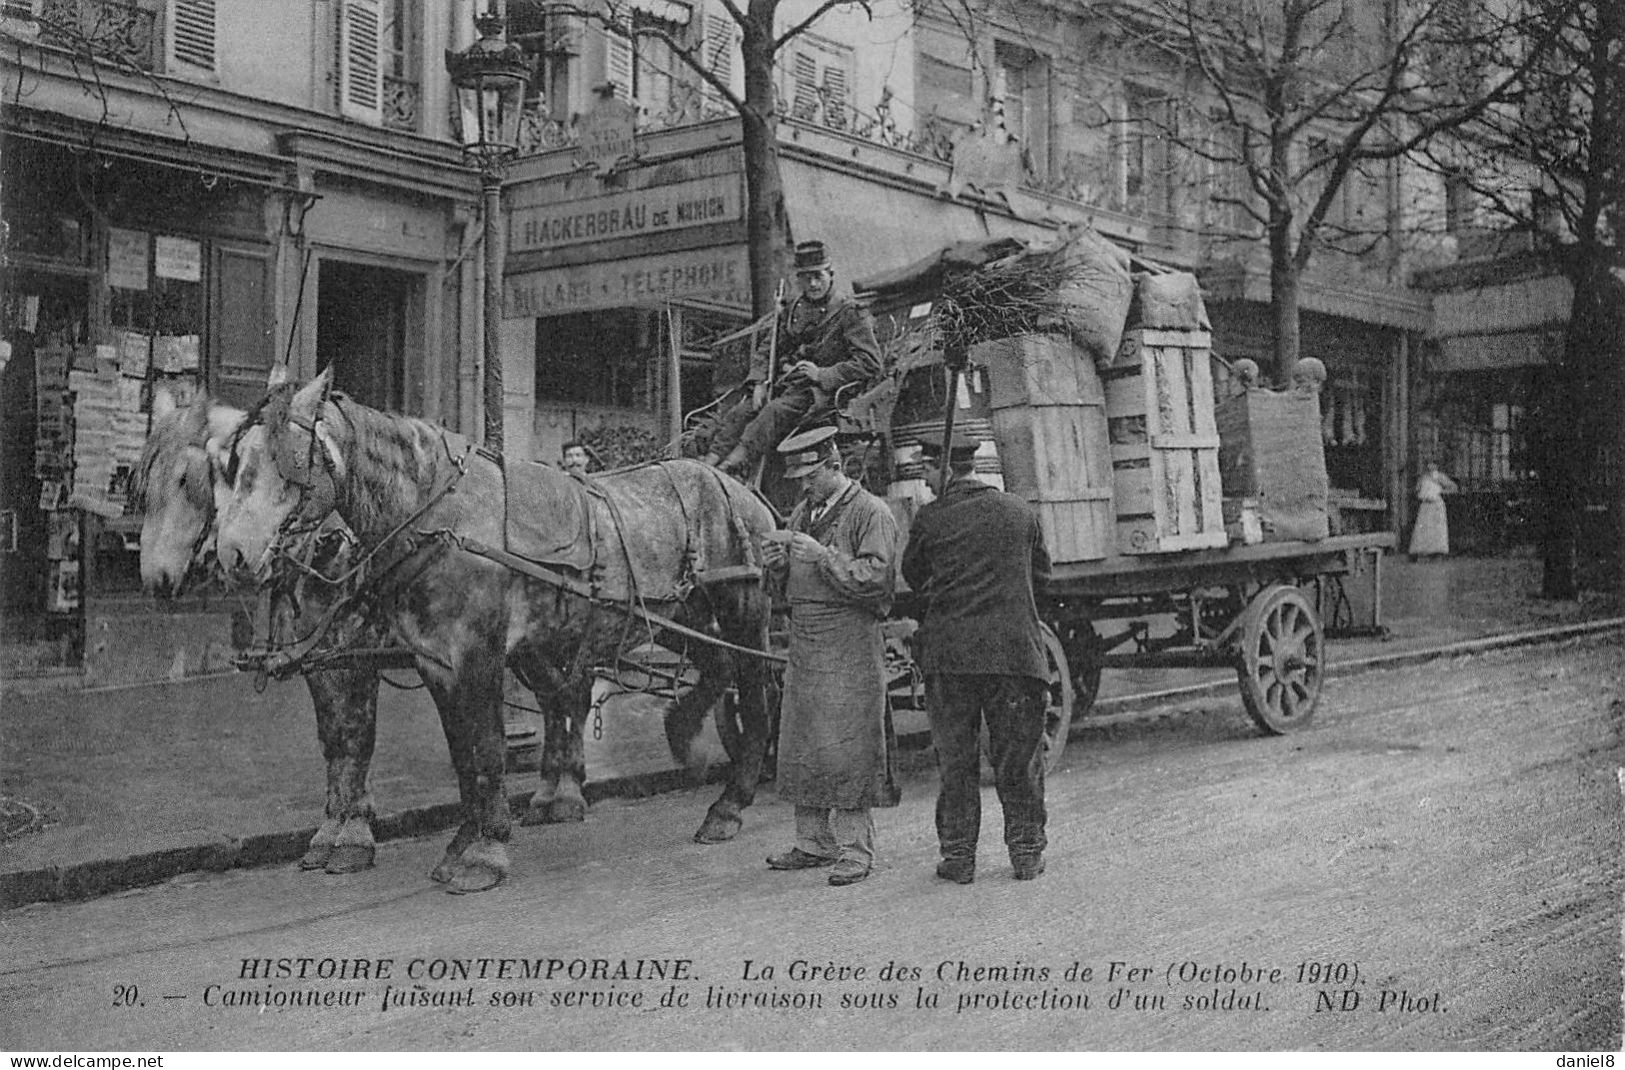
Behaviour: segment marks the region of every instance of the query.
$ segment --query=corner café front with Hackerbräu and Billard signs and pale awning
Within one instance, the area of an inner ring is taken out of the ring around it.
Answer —
[[[562,150],[523,161],[507,187],[507,426],[510,449],[512,428],[530,431],[538,460],[572,439],[606,465],[658,449],[713,398],[710,343],[749,320],[738,124],[630,143],[635,159],[608,174]],[[1144,237],[1064,202],[1024,195],[1017,215],[949,195],[947,164],[795,124],[778,166],[791,239],[824,241],[842,288],[960,241],[1051,239],[1063,220]]]

